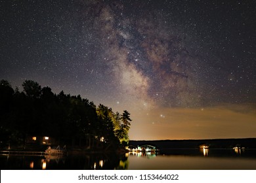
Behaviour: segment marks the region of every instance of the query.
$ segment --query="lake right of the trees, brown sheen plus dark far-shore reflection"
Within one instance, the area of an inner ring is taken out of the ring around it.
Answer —
[[[241,156],[232,149],[211,149],[210,154],[209,151],[209,148],[169,149],[169,154],[158,154],[152,159],[131,153],[128,169],[256,169],[256,150],[246,150]]]

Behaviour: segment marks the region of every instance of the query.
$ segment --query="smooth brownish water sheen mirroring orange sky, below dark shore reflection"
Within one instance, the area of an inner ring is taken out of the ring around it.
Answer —
[[[156,158],[129,156],[129,169],[256,169],[255,158],[165,155]]]

